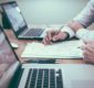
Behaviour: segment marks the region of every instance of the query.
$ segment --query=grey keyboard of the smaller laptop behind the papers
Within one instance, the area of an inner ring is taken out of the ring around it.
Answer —
[[[31,36],[31,35],[32,36],[40,36],[43,31],[44,31],[44,29],[31,29],[23,35],[24,36]]]

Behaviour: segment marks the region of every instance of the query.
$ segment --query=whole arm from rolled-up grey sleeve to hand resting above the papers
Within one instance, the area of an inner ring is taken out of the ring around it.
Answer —
[[[51,44],[51,41],[65,40],[73,37],[75,33],[80,36],[79,30],[87,28],[94,21],[94,0],[91,0],[85,9],[67,23],[60,32],[51,31],[43,38],[44,44]]]

